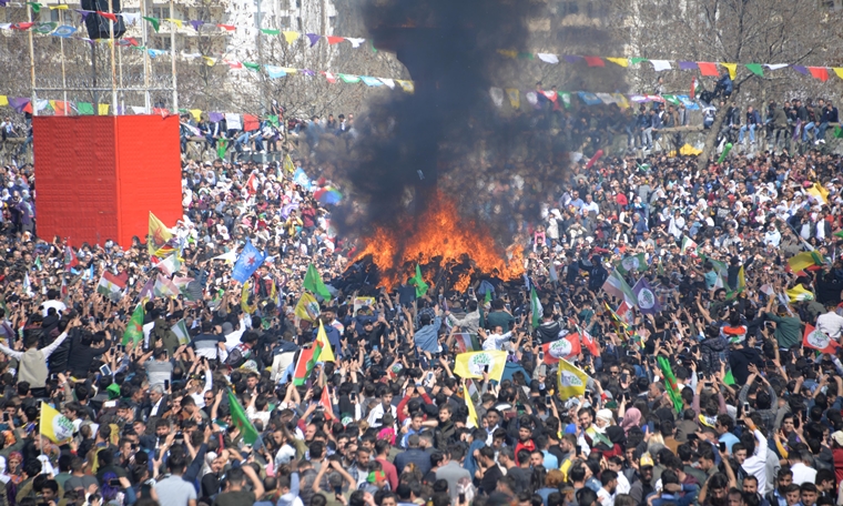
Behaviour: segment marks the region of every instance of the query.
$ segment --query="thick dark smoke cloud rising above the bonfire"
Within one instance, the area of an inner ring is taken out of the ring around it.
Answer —
[[[517,0],[372,0],[366,28],[379,50],[395,52],[415,93],[390,93],[355,128],[352,161],[337,161],[355,203],[338,210],[344,233],[366,235],[423,215],[440,192],[460,215],[488,225],[506,245],[517,222],[558,189],[567,146],[551,134],[549,113],[509,117],[489,89],[516,82],[500,49],[528,47],[532,2]],[[547,121],[546,121],[547,117]],[[512,184],[512,176],[516,183]],[[500,186],[499,195],[490,189]],[[536,194],[538,192],[538,194]],[[527,193],[532,193],[527,199]],[[529,203],[528,203],[529,202]]]

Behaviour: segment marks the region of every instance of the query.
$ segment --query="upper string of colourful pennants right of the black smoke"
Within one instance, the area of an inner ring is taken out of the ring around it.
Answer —
[[[559,64],[565,61],[567,63],[586,63],[588,67],[607,67],[608,63],[613,63],[618,67],[628,68],[638,65],[640,63],[650,63],[652,69],[657,72],[663,72],[666,70],[699,70],[703,77],[719,77],[720,68],[722,67],[729,71],[729,75],[734,79],[738,74],[738,68],[744,67],[746,70],[755,75],[763,77],[764,69],[769,71],[781,70],[791,68],[802,75],[811,75],[820,81],[827,81],[831,75],[829,71],[834,72],[839,78],[843,79],[843,67],[809,67],[796,65],[790,63],[728,63],[728,62],[711,62],[711,61],[684,61],[684,60],[653,60],[650,58],[610,58],[610,57],[583,57],[578,54],[553,54],[553,53],[531,53],[519,52],[515,50],[499,49],[498,53],[506,58],[514,60],[540,60],[545,63]]]

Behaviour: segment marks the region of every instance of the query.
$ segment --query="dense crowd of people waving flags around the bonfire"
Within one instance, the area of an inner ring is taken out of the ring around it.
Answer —
[[[313,161],[185,162],[167,253],[38,236],[32,168],[4,168],[0,505],[843,504],[843,159],[587,159],[557,194],[487,182],[525,275],[460,291],[355,274]]]

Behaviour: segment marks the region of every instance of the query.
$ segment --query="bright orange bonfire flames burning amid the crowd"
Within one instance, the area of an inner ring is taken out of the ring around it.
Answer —
[[[519,247],[500,251],[486,226],[461,217],[453,200],[441,193],[418,219],[404,220],[390,229],[377,227],[364,243],[355,260],[370,256],[380,271],[380,286],[387,290],[413,276],[416,263],[431,287],[448,274],[449,287],[459,292],[481,273],[502,280],[524,274]]]

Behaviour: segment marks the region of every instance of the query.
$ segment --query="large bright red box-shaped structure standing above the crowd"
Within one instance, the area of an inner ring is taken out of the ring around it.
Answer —
[[[39,237],[129,247],[146,242],[149,213],[182,217],[179,117],[35,117]]]

